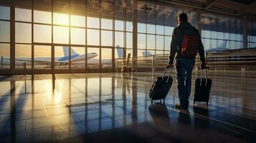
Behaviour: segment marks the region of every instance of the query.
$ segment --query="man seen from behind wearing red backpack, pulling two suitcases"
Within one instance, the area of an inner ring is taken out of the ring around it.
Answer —
[[[206,67],[204,58],[204,46],[202,44],[199,31],[194,28],[194,26],[189,24],[186,14],[179,14],[178,21],[179,25],[174,28],[172,34],[169,65],[166,67],[171,68],[174,66],[174,59],[176,59],[175,67],[178,82],[179,104],[175,104],[175,107],[179,109],[188,109],[189,96],[191,92],[191,74],[194,68],[197,52],[199,53],[200,60],[202,61],[201,68],[204,69]],[[187,37],[191,37],[191,41],[186,41]],[[187,43],[190,43],[191,45],[194,44],[194,51],[192,51],[192,48],[189,48],[190,51],[186,51]]]

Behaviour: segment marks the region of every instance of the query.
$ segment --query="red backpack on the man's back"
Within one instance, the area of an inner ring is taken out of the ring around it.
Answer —
[[[196,34],[184,34],[184,30],[181,27],[183,33],[183,39],[181,41],[181,54],[185,57],[194,57],[197,54],[197,38]]]

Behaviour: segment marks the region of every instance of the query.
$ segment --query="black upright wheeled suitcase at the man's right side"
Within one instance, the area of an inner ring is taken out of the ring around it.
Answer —
[[[196,79],[194,89],[194,104],[195,102],[207,102],[209,103],[210,91],[212,87],[212,79],[208,79],[209,67],[205,69],[205,77],[202,78],[203,69],[201,71],[200,79]]]

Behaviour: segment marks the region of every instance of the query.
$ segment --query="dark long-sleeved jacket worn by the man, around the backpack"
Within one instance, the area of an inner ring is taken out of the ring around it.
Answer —
[[[183,31],[182,31],[183,29]],[[204,57],[204,46],[202,44],[201,36],[199,34],[199,31],[194,28],[194,26],[191,26],[189,22],[181,22],[178,26],[174,28],[174,31],[172,33],[172,39],[171,39],[171,51],[169,56],[169,64],[174,63],[175,59],[195,59],[196,57],[185,57],[181,55],[180,47],[181,42],[183,39],[184,34],[196,34],[196,37],[198,37],[198,52],[200,56],[200,60],[202,63],[205,63],[205,57]],[[175,56],[175,57],[174,57]]]

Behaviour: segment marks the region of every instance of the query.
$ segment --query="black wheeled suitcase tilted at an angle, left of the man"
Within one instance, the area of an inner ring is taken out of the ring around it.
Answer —
[[[171,68],[172,70],[173,68]],[[163,72],[163,77],[157,77],[156,82],[153,83],[150,92],[148,93],[149,98],[151,98],[151,103],[153,100],[163,99],[163,102],[171,89],[171,84],[174,79],[171,78],[171,71],[169,76],[165,77],[167,68]],[[160,101],[161,102],[161,101]]]

